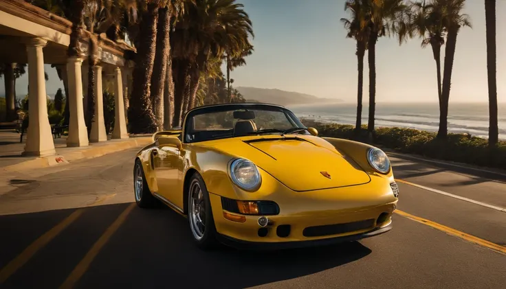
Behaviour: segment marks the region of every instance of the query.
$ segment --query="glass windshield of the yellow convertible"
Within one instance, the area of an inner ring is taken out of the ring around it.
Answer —
[[[190,111],[186,117],[184,141],[193,143],[287,133],[309,134],[294,113],[286,108],[265,104],[226,104]]]

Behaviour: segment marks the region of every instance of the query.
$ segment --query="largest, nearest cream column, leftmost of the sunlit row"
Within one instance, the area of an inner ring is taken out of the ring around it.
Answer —
[[[45,157],[56,154],[50,120],[47,118],[47,95],[44,78],[43,47],[47,41],[30,38],[26,42],[28,54],[28,115],[29,125],[23,156]]]

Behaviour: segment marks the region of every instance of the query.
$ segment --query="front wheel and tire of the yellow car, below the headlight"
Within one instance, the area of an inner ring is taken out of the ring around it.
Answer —
[[[202,177],[195,172],[188,185],[188,222],[192,238],[201,249],[212,248],[217,244],[216,227],[212,218],[209,192]]]

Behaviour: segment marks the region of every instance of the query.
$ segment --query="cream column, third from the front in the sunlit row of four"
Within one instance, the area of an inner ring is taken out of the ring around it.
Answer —
[[[104,124],[104,102],[102,96],[102,67],[96,65],[93,67],[95,71],[96,86],[95,86],[95,116],[91,123],[91,132],[89,141],[97,143],[98,141],[107,141],[107,133],[105,132]]]

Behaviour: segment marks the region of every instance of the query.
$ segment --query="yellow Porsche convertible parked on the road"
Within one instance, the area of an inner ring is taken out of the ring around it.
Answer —
[[[188,218],[201,248],[293,248],[390,231],[399,190],[386,154],[318,137],[283,106],[193,108],[137,153],[135,202]]]

